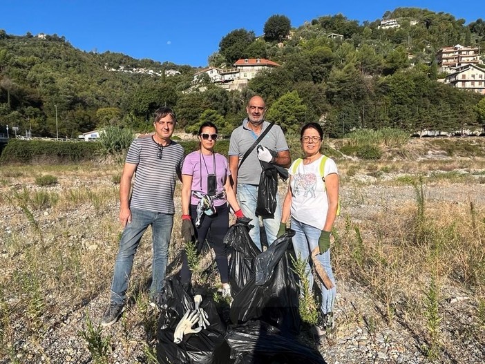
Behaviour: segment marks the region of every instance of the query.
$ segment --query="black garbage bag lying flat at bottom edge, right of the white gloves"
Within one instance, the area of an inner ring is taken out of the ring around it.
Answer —
[[[226,341],[234,364],[325,364],[321,354],[262,321],[250,321],[228,330]]]

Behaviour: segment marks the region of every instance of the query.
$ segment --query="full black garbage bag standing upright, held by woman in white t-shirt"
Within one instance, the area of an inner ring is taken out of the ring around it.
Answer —
[[[231,305],[232,323],[263,320],[283,334],[298,334],[301,318],[298,280],[290,258],[292,236],[294,231],[287,231],[255,258],[255,273]]]

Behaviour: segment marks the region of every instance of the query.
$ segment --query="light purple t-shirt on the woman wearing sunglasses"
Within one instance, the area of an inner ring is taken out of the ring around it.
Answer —
[[[224,190],[226,179],[231,175],[226,157],[219,153],[205,155],[200,153],[200,151],[187,154],[182,166],[182,175],[192,176],[192,191],[207,193],[207,174],[216,174],[216,194]],[[190,203],[198,204],[199,199],[192,195]],[[214,206],[221,206],[225,203],[226,199],[214,200]]]

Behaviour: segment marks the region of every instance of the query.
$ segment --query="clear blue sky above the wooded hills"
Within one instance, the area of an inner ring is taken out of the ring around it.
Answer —
[[[137,59],[206,66],[227,33],[245,28],[261,35],[265,22],[275,14],[286,15],[298,27],[338,13],[352,20],[374,21],[399,7],[448,12],[466,23],[485,17],[485,0],[0,0],[0,29],[10,35],[57,34],[86,51],[109,50]]]

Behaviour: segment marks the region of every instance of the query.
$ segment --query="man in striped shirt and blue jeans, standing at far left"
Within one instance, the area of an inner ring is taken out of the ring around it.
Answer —
[[[175,213],[173,192],[184,159],[182,146],[170,139],[176,121],[171,108],[159,108],[153,121],[155,133],[133,140],[126,155],[120,182],[120,222],[124,230],[111,284],[111,302],[104,312],[102,326],[115,323],[124,311],[133,258],[149,225],[153,235],[152,298],[156,299],[162,291]]]

